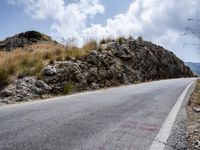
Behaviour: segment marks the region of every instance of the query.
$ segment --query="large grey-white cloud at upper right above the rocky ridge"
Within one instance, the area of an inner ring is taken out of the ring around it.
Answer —
[[[84,32],[102,37],[143,36],[169,47],[184,32],[187,19],[195,17],[199,0],[135,0],[126,13],[107,20],[106,25],[92,25]]]

